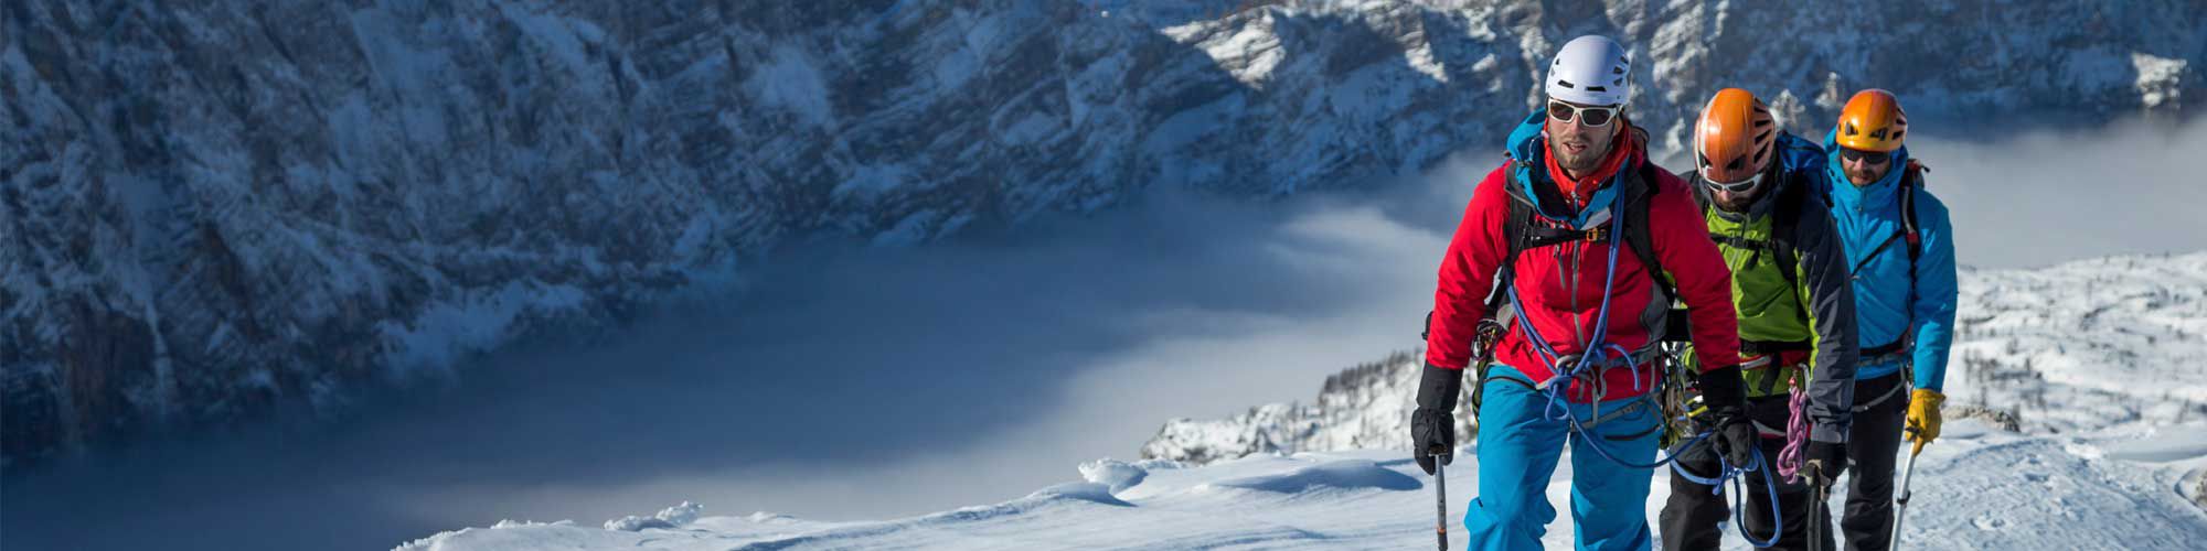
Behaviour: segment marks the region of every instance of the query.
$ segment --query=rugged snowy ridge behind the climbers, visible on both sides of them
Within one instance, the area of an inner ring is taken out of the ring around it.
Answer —
[[[2141,434],[2207,423],[2207,253],[1962,271],[1947,417],[2024,434]],[[1172,419],[1143,458],[1410,450],[1424,353],[1326,377],[1315,403]],[[1459,403],[1470,403],[1459,399]],[[1465,412],[1470,408],[1465,406]],[[1468,414],[1459,414],[1468,417]],[[1476,434],[1457,419],[1457,434]],[[1468,439],[1468,436],[1465,436]]]

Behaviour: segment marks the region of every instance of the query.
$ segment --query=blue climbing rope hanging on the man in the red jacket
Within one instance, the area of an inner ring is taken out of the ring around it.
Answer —
[[[1640,366],[1631,364],[1633,353],[1624,350],[1624,346],[1607,342],[1609,339],[1609,298],[1611,298],[1611,291],[1616,291],[1616,284],[1618,284],[1618,249],[1620,249],[1618,238],[1624,236],[1620,231],[1624,231],[1624,212],[1622,209],[1613,209],[1611,216],[1609,216],[1609,236],[1611,236],[1611,242],[1609,242],[1609,267],[1607,267],[1607,273],[1602,276],[1602,306],[1593,315],[1593,337],[1587,339],[1587,342],[1580,342],[1580,350],[1587,350],[1587,353],[1582,353],[1578,357],[1578,361],[1571,361],[1569,366],[1565,366],[1565,359],[1563,359],[1560,353],[1556,353],[1556,348],[1547,346],[1547,337],[1540,337],[1540,331],[1532,326],[1532,317],[1525,315],[1525,300],[1518,298],[1516,282],[1510,282],[1510,289],[1507,289],[1510,291],[1510,309],[1512,309],[1512,313],[1516,313],[1518,328],[1525,328],[1525,337],[1527,337],[1527,342],[1532,342],[1532,350],[1540,357],[1540,361],[1554,366],[1552,372],[1549,372],[1549,381],[1540,383],[1540,386],[1534,386],[1536,392],[1540,392],[1543,397],[1547,397],[1547,406],[1540,410],[1540,417],[1545,417],[1547,421],[1565,421],[1569,425],[1569,430],[1574,434],[1578,434],[1580,441],[1587,443],[1587,447],[1593,447],[1593,452],[1598,456],[1607,458],[1609,463],[1618,463],[1618,465],[1631,467],[1631,469],[1653,469],[1653,467],[1671,465],[1671,472],[1677,472],[1680,476],[1686,476],[1686,480],[1695,480],[1699,485],[1713,487],[1710,494],[1721,494],[1724,485],[1730,483],[1735,487],[1732,498],[1730,498],[1732,500],[1732,518],[1744,520],[1744,516],[1739,514],[1741,511],[1741,498],[1739,496],[1744,491],[1744,483],[1739,483],[1739,476],[1748,474],[1748,472],[1755,472],[1755,469],[1761,469],[1761,463],[1763,463],[1763,450],[1761,447],[1750,447],[1748,450],[1755,456],[1755,463],[1748,465],[1748,467],[1735,467],[1728,461],[1724,461],[1721,454],[1717,454],[1717,465],[1721,469],[1717,472],[1715,478],[1702,478],[1702,476],[1695,476],[1695,474],[1686,472],[1675,461],[1677,461],[1680,452],[1684,452],[1686,447],[1693,447],[1695,443],[1706,441],[1710,434],[1715,434],[1715,430],[1704,430],[1704,432],[1695,434],[1693,439],[1680,443],[1677,447],[1664,450],[1664,456],[1657,458],[1655,463],[1644,463],[1642,465],[1642,463],[1624,461],[1624,458],[1618,458],[1616,454],[1611,454],[1602,445],[1602,439],[1598,434],[1587,432],[1587,428],[1578,419],[1578,414],[1571,412],[1569,392],[1571,392],[1571,386],[1578,379],[1593,381],[1593,386],[1596,386],[1596,390],[1593,390],[1593,403],[1596,403],[1596,408],[1600,408],[1600,401],[1607,395],[1607,390],[1604,390],[1607,381],[1600,377],[1600,368],[1607,366],[1607,364],[1611,364],[1611,355],[1613,353],[1616,353],[1616,357],[1620,357],[1620,359],[1627,361],[1624,368],[1631,370],[1631,375],[1633,375],[1633,390],[1644,390],[1642,388],[1644,381],[1640,379]],[[1554,370],[1560,370],[1560,372],[1554,372]],[[1556,383],[1556,381],[1563,381],[1563,383]],[[1662,379],[1655,379],[1655,386],[1660,390]],[[1560,410],[1560,414],[1558,414],[1558,410]],[[1710,452],[1715,452],[1715,450],[1710,450]],[[1783,518],[1779,518],[1779,487],[1777,487],[1777,480],[1770,474],[1766,474],[1763,476],[1763,487],[1770,494],[1770,518],[1772,518],[1774,529],[1772,529],[1770,538],[1757,540],[1755,536],[1748,533],[1748,525],[1739,522],[1739,538],[1746,538],[1748,544],[1752,544],[1752,547],[1777,544],[1779,536],[1785,533],[1785,522],[1783,522]]]

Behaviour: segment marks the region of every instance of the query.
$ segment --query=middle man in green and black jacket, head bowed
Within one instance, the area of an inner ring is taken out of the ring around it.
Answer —
[[[1770,108],[1739,88],[1719,90],[1693,132],[1688,181],[1732,271],[1748,419],[1766,461],[1748,472],[1741,536],[1757,544],[1774,540],[1770,549],[1805,549],[1810,540],[1830,549],[1830,531],[1819,527],[1830,511],[1812,489],[1830,489],[1847,461],[1856,320],[1847,253],[1821,196],[1825,154],[1779,130]],[[1717,454],[1706,443],[1691,445],[1675,469],[1691,476],[1671,476],[1662,547],[1717,549],[1726,496],[1693,480],[1721,472]],[[1770,474],[1781,478],[1766,485]],[[1772,485],[1777,491],[1768,491]]]

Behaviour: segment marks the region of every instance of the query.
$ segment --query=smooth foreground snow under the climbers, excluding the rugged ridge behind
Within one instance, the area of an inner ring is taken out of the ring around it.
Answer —
[[[1916,467],[1905,538],[1916,549],[2196,549],[2207,538],[2207,514],[2178,496],[2174,469],[2108,458],[2097,441],[2017,436],[1977,421],[1947,432]],[[1448,469],[1454,544],[1476,487],[1470,452]],[[1558,511],[1569,511],[1569,465],[1547,496]],[[1430,549],[1435,538],[1432,487],[1399,452],[1260,454],[1203,467],[1097,461],[1081,474],[1026,498],[898,520],[695,518],[684,505],[603,527],[499,522],[399,549]],[[1651,514],[1666,476],[1653,478]],[[1543,542],[1569,549],[1569,514]],[[1750,547],[1726,533],[1724,549]]]

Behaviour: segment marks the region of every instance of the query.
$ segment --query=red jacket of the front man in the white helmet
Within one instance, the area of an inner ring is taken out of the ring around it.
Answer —
[[[1540,156],[1547,156],[1547,143],[1534,137]],[[1532,143],[1518,143],[1521,152]],[[1613,174],[1622,170],[1638,170],[1646,152],[1640,148],[1638,139],[1629,132],[1618,141],[1616,156],[1602,163],[1598,174],[1580,181],[1602,181],[1613,185]],[[1552,163],[1545,163],[1552,165]],[[1494,287],[1494,271],[1510,253],[1503,242],[1503,220],[1510,216],[1510,185],[1512,163],[1503,163],[1488,179],[1479,183],[1472,192],[1472,203],[1463,209],[1463,223],[1457,227],[1457,236],[1448,242],[1448,256],[1441,258],[1439,289],[1432,293],[1432,326],[1426,337],[1426,361],[1441,368],[1463,368],[1470,364],[1470,346],[1474,328],[1485,313],[1485,295]],[[1547,170],[1543,170],[1547,172]],[[1702,209],[1693,203],[1693,192],[1686,183],[1666,170],[1653,170],[1653,185],[1660,192],[1649,203],[1649,240],[1653,242],[1655,258],[1671,273],[1677,284],[1680,298],[1686,302],[1691,326],[1693,326],[1693,348],[1706,368],[1721,368],[1739,364],[1739,317],[1732,311],[1732,273],[1724,267],[1724,256],[1717,245],[1708,240],[1708,225],[1702,220]],[[1556,185],[1554,179],[1540,179],[1536,185]],[[1585,190],[1580,190],[1585,194]],[[1585,196],[1578,196],[1580,205]],[[1558,355],[1582,353],[1580,331],[1591,337],[1593,320],[1600,311],[1602,278],[1609,269],[1609,247],[1622,245],[1622,238],[1611,238],[1607,242],[1565,242],[1554,247],[1525,249],[1516,260],[1516,287],[1523,300],[1527,320],[1538,328],[1547,344]],[[1567,289],[1565,269],[1571,267],[1571,258],[1578,258],[1576,271],[1576,295]],[[1646,276],[1640,258],[1629,249],[1618,251],[1618,273],[1616,289],[1611,293],[1609,306],[1609,342],[1622,346],[1624,350],[1640,350],[1649,335],[1653,333],[1649,324],[1662,324],[1655,315],[1657,309],[1668,309],[1668,304],[1655,304],[1655,284]],[[1538,359],[1525,331],[1512,324],[1510,333],[1496,344],[1494,361],[1512,366],[1534,383],[1543,383],[1554,377],[1552,366]],[[1602,399],[1627,399],[1653,390],[1655,372],[1651,366],[1635,366],[1640,370],[1640,388],[1633,388],[1633,372],[1622,368],[1611,368],[1602,375],[1607,381],[1607,392]],[[1589,386],[1571,386],[1571,401],[1591,401],[1593,392]]]

